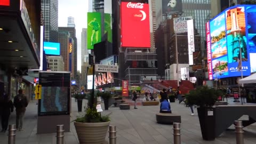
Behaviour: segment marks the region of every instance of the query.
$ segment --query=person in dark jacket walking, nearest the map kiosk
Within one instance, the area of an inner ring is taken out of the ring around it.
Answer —
[[[14,107],[16,108],[16,129],[23,131],[23,117],[25,115],[26,107],[28,106],[28,99],[23,94],[23,90],[18,91],[18,95],[14,97]]]

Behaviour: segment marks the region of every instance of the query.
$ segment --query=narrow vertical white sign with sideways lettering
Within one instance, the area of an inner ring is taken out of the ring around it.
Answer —
[[[194,22],[187,20],[188,26],[188,61],[189,65],[194,65],[193,52],[195,52],[195,41],[194,41]]]

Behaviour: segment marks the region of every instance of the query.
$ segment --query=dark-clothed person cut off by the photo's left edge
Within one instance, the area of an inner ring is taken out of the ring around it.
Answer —
[[[0,98],[0,114],[2,119],[1,132],[6,132],[11,112],[13,112],[13,103],[8,95],[4,93]]]

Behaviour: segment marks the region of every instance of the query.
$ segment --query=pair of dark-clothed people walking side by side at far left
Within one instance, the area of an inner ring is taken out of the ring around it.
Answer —
[[[4,91],[1,92],[0,97],[0,115],[2,131],[6,132],[9,125],[9,117],[15,107],[16,111],[16,129],[23,131],[23,117],[25,115],[26,107],[28,106],[28,98],[23,94],[23,90],[18,91],[18,95],[14,97],[12,102],[11,98]]]

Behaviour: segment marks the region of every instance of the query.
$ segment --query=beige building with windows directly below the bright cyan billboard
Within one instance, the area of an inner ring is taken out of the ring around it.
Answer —
[[[47,63],[49,65],[49,68],[52,71],[64,71],[64,61],[63,61],[63,57],[60,56],[47,56]]]

